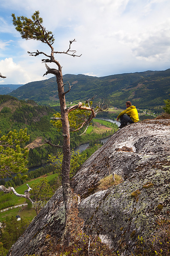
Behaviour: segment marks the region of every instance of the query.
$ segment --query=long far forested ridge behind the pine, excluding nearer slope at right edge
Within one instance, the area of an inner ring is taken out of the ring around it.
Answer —
[[[93,97],[94,94],[98,98],[109,99],[109,95],[112,95],[113,92],[122,90],[134,83],[143,82],[156,73],[158,71],[124,73],[103,77],[66,74],[63,76],[65,87],[68,86],[67,81],[73,85],[71,91],[66,95],[66,99],[68,101],[86,100]],[[56,78],[52,77],[47,80],[28,83],[11,92],[10,95],[23,100],[32,99],[40,104],[50,104],[54,100],[58,100]]]

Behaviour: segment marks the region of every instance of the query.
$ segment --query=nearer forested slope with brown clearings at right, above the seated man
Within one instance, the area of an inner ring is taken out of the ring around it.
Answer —
[[[170,69],[157,72],[147,79],[136,81],[122,90],[113,92],[110,101],[119,108],[130,100],[137,108],[157,108],[170,98]]]

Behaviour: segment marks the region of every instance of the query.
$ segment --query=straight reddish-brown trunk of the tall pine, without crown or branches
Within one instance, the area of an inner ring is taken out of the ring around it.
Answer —
[[[58,85],[58,96],[60,100],[61,106],[61,122],[62,122],[62,130],[63,130],[63,162],[62,162],[62,189],[63,189],[63,200],[66,209],[66,219],[67,212],[70,208],[71,203],[71,188],[70,188],[70,126],[68,121],[68,113],[65,101],[64,94],[64,85],[63,85],[63,76],[62,71],[59,70],[56,74],[57,77],[57,85]]]

